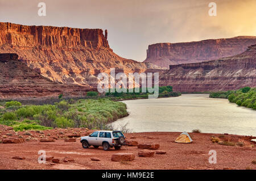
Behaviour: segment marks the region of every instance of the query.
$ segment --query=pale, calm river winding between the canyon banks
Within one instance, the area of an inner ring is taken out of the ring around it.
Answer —
[[[131,132],[230,133],[256,136],[256,111],[228,99],[209,94],[183,94],[174,98],[125,100],[129,116],[115,121],[114,128],[127,123]]]

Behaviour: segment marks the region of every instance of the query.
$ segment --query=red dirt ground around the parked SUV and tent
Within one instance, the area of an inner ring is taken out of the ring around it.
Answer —
[[[5,129],[7,131],[1,131],[1,139],[6,132],[10,132],[7,127]],[[60,136],[60,132],[64,134]],[[247,141],[246,137],[243,136],[189,133],[194,140],[191,144],[177,144],[174,140],[179,136],[180,133],[178,132],[125,134],[127,140],[138,141],[139,144],[159,144],[159,150],[167,151],[166,154],[154,154],[153,157],[139,157],[138,152],[141,149],[138,149],[137,146],[123,146],[121,150],[104,151],[101,147],[93,148],[92,146],[89,149],[83,149],[79,138],[76,142],[64,141],[68,136],[71,137],[71,133],[84,136],[90,132],[92,131],[86,129],[53,129],[43,131],[43,133],[44,135],[51,134],[48,137],[56,137],[55,142],[26,141],[25,139],[24,143],[21,144],[0,144],[0,169],[256,169],[256,165],[251,163],[256,159],[256,145]],[[32,136],[39,136],[37,132],[30,133]],[[24,134],[24,132],[19,132],[19,134]],[[220,141],[240,144],[235,146],[220,145],[213,143],[212,137],[220,137]],[[245,144],[242,145],[241,141]],[[45,150],[46,155],[59,159],[60,163],[47,161],[46,164],[39,164],[39,150]],[[217,152],[216,164],[210,164],[208,161],[210,150]],[[130,162],[113,162],[111,158],[114,153],[134,153],[135,159]],[[12,159],[14,156],[25,157],[26,159]],[[64,162],[65,157],[72,158],[74,161]],[[94,157],[100,161],[90,159]]]

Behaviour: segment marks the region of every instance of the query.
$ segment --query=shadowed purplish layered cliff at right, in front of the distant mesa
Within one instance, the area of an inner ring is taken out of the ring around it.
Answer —
[[[232,57],[194,64],[170,65],[159,78],[160,86],[172,85],[175,91],[235,90],[256,87],[256,45]]]

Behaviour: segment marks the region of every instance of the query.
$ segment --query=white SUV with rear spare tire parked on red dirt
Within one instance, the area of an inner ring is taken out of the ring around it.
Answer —
[[[89,136],[81,137],[82,148],[89,148],[90,145],[94,148],[103,146],[104,150],[114,148],[119,150],[122,145],[125,145],[125,136],[121,131],[95,131]]]

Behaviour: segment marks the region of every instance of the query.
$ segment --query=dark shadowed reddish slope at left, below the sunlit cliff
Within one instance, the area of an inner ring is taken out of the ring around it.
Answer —
[[[18,60],[17,54],[0,54],[0,98],[82,96],[91,86],[64,85],[43,77]]]

